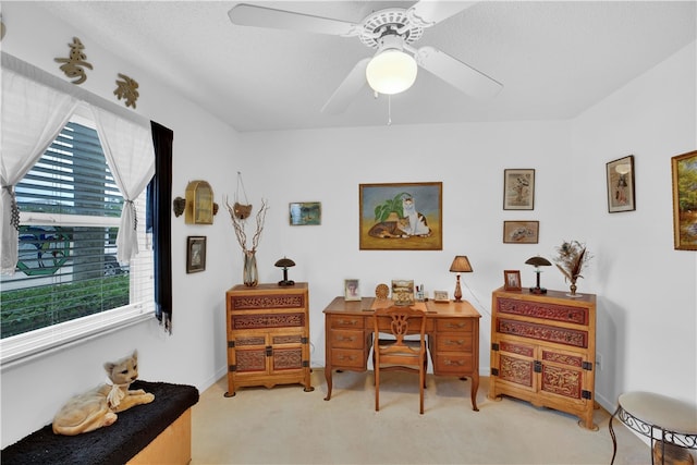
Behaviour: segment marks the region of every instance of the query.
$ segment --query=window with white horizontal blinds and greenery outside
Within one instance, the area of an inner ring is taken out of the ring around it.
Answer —
[[[73,117],[16,185],[20,257],[0,277],[2,360],[152,314],[152,252],[117,260],[123,197],[91,121]],[[135,201],[145,212],[145,192]],[[139,218],[140,219],[140,218]]]

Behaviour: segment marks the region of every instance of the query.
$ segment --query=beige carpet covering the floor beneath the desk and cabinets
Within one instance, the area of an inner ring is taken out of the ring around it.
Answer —
[[[417,377],[386,372],[375,412],[372,372],[333,376],[326,402],[322,369],[315,391],[299,384],[241,388],[224,397],[227,378],[193,408],[193,465],[199,464],[609,464],[610,415],[595,413],[598,431],[577,418],[511,397],[487,399],[482,377],[472,409],[469,381],[428,376],[418,414]],[[617,420],[615,464],[650,464],[648,445]]]

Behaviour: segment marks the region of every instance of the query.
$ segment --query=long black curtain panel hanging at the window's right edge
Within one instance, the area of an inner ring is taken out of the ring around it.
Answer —
[[[155,255],[155,314],[172,332],[172,140],[174,133],[150,122],[155,146],[155,175],[147,189],[146,228]]]

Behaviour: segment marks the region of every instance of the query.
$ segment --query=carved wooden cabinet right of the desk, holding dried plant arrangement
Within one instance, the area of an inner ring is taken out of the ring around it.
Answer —
[[[596,296],[564,292],[492,294],[489,399],[502,394],[578,416],[597,430]]]

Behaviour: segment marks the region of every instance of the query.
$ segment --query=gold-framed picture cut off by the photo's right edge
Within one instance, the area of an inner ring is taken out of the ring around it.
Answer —
[[[697,150],[671,159],[676,250],[697,250]]]

